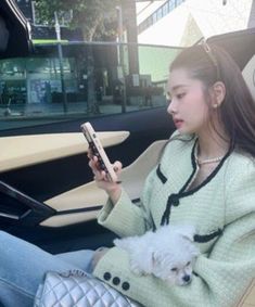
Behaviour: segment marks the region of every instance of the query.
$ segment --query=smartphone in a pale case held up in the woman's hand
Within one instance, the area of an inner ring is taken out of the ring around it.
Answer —
[[[113,166],[93,127],[89,121],[87,121],[82,124],[80,128],[89,143],[89,148],[92,151],[92,154],[98,157],[100,169],[106,172],[109,180],[116,182],[117,175],[115,174]]]

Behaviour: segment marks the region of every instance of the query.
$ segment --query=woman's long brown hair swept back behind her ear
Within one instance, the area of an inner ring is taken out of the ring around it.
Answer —
[[[231,145],[255,157],[255,102],[242,73],[232,57],[221,48],[197,44],[184,49],[170,65],[184,68],[200,79],[208,93],[216,81],[222,81],[226,97],[218,108],[219,120],[231,140]]]

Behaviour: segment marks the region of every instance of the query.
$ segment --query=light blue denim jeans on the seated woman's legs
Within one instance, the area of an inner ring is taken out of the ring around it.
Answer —
[[[47,271],[81,269],[91,272],[93,251],[51,255],[41,248],[0,231],[0,305],[30,307]]]

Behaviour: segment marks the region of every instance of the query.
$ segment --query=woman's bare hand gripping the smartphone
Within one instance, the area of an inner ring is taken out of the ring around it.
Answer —
[[[92,169],[92,172],[94,175],[94,181],[97,183],[97,186],[100,189],[103,189],[110,196],[110,199],[112,200],[113,204],[115,204],[122,193],[122,188],[120,188],[120,182],[112,182],[110,181],[110,179],[106,176],[106,172],[104,170],[100,169],[99,166],[99,162],[98,162],[98,157],[92,155],[91,150],[88,151],[88,158],[89,161],[89,166]],[[122,172],[122,163],[119,161],[116,161],[113,164],[113,169],[116,172],[117,177],[119,176],[119,174]]]

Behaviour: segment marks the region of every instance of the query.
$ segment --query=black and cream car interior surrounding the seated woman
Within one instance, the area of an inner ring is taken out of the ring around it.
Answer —
[[[12,1],[0,4],[0,57],[29,56],[29,24]],[[214,36],[235,60],[255,98],[255,29]],[[18,48],[17,48],[18,46]],[[0,230],[56,254],[112,246],[114,233],[97,223],[106,194],[88,166],[88,143],[78,117],[0,130]],[[92,116],[89,121],[111,162],[124,165],[122,182],[133,203],[174,131],[166,105]],[[238,306],[255,306],[254,282]]]

